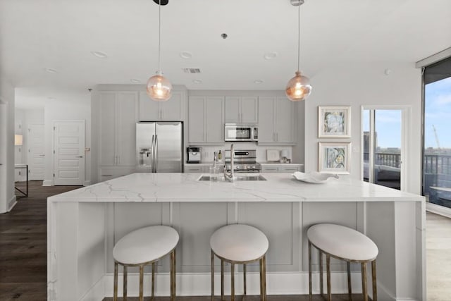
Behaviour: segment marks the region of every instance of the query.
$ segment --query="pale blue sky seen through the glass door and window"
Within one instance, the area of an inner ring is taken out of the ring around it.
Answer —
[[[433,126],[441,148],[451,148],[451,78],[432,82],[425,87],[425,147],[437,148]],[[369,131],[369,113],[364,113],[364,130]],[[401,112],[376,111],[378,146],[401,147]]]

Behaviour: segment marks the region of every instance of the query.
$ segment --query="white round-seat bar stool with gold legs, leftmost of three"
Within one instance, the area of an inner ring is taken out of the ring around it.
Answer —
[[[123,300],[127,300],[127,268],[140,267],[140,301],[143,300],[142,282],[144,266],[152,264],[152,300],[154,300],[155,262],[171,253],[171,301],[175,300],[175,247],[178,233],[168,226],[149,226],[132,231],[119,240],[113,248],[114,294],[118,300],[118,265],[124,270]]]

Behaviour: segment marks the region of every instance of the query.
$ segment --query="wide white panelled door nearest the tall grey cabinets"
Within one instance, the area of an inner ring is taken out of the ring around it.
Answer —
[[[85,182],[85,121],[54,121],[54,183]]]

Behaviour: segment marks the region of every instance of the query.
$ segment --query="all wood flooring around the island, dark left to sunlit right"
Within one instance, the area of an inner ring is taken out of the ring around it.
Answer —
[[[20,183],[23,185],[23,183]],[[76,186],[54,186],[42,187],[41,181],[30,182],[29,197],[20,197],[18,204],[11,212],[0,214],[0,301],[44,301],[47,300],[47,197],[57,195],[61,192],[76,189]],[[427,214],[428,240],[430,233],[434,233],[433,238],[438,241],[449,243],[449,231],[451,229],[451,220]],[[440,221],[440,223],[438,222]],[[432,223],[431,223],[432,222]],[[433,241],[431,241],[433,242]],[[428,241],[428,244],[431,244]],[[436,243],[435,243],[436,245]],[[431,248],[428,247],[428,251]],[[433,255],[438,260],[431,260],[428,254],[428,276],[443,270],[445,273],[450,269],[449,260],[440,260],[445,254],[449,255],[449,248],[436,247],[437,253]],[[442,252],[438,254],[438,252]],[[429,252],[428,252],[429,253]],[[434,258],[435,258],[434,257]],[[447,258],[447,257],[446,257]],[[437,262],[437,264],[431,265]],[[440,266],[442,268],[440,268]],[[440,277],[442,278],[442,277]],[[431,300],[451,300],[449,298],[450,285],[447,288],[430,287],[428,282],[428,299]],[[432,285],[431,285],[432,286]],[[440,285],[441,286],[441,285]],[[431,294],[438,296],[436,299]],[[448,296],[448,297],[445,297]],[[216,300],[219,300],[216,297]],[[112,298],[104,298],[104,301],[111,301]],[[122,300],[120,298],[119,300]],[[128,300],[135,301],[137,298],[129,297]],[[150,300],[146,298],[145,300]],[[168,301],[168,297],[156,297],[155,301]],[[209,297],[177,297],[180,301],[209,301]],[[230,299],[226,299],[230,300]],[[241,297],[236,298],[237,301]],[[247,301],[257,301],[258,297],[249,296]],[[303,301],[309,300],[307,295],[281,295],[268,296],[268,301]],[[313,300],[323,300],[315,296]],[[347,295],[333,295],[334,301],[347,300]],[[352,300],[362,300],[359,295],[353,295]],[[64,301],[64,300],[61,300]]]

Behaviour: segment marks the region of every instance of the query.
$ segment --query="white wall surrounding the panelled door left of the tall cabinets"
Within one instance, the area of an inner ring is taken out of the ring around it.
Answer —
[[[45,180],[43,185],[54,185],[53,123],[54,121],[84,120],[85,147],[91,147],[91,95],[89,92],[68,94],[61,102],[44,108]],[[85,185],[91,183],[91,152],[85,152]]]

